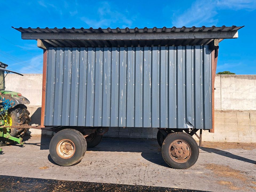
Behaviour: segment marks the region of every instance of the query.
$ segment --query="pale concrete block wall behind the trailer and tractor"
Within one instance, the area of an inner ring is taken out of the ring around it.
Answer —
[[[27,107],[32,125],[41,121],[41,85],[42,74],[6,77],[6,90],[20,92],[30,100]],[[215,132],[203,131],[203,141],[256,142],[256,75],[216,75],[215,88]],[[28,134],[52,135],[35,129]],[[151,139],[156,134],[156,128],[112,127],[105,136]]]

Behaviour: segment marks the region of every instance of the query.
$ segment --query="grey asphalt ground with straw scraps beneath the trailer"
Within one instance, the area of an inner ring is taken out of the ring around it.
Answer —
[[[98,146],[87,150],[79,164],[70,167],[53,162],[50,139],[26,136],[23,147],[2,147],[0,192],[43,191],[38,190],[38,183],[48,187],[45,191],[256,190],[256,145],[251,143],[203,142],[195,165],[176,170],[166,165],[153,139],[103,138]]]

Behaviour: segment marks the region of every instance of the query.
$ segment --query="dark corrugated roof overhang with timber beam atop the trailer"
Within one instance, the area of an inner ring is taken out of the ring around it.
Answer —
[[[130,47],[208,45],[223,39],[238,38],[241,27],[181,27],[138,29],[41,29],[14,28],[22,39],[38,40],[38,47]],[[214,41],[213,41],[214,40]]]

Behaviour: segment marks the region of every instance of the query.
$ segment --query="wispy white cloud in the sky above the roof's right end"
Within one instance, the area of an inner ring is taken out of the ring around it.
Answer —
[[[191,7],[180,15],[173,15],[173,26],[212,26],[217,25],[218,19],[214,18],[219,10],[255,10],[255,0],[223,0],[223,1],[196,1]]]

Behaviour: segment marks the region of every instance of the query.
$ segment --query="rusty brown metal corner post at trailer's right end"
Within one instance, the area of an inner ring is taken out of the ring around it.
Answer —
[[[209,130],[210,133],[214,133],[214,82],[215,82],[216,69],[217,69],[218,52],[219,52],[219,46],[217,46],[211,52],[212,129]]]

